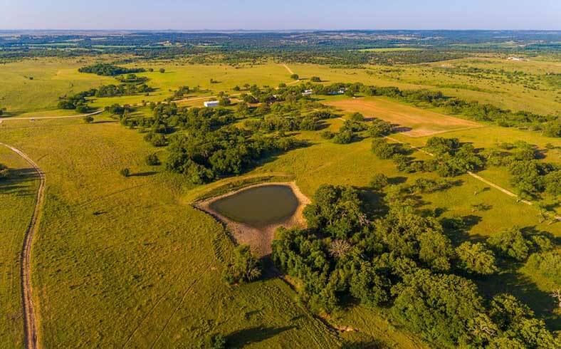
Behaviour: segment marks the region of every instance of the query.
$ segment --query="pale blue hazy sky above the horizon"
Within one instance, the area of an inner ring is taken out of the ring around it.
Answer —
[[[0,0],[0,29],[561,29],[561,0]]]

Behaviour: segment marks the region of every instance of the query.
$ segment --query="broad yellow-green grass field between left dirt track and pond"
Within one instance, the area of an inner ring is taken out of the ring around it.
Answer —
[[[44,347],[192,348],[214,331],[235,346],[337,348],[344,338],[373,340],[369,333],[387,345],[422,346],[364,311],[375,328],[338,333],[279,278],[226,286],[221,272],[233,245],[222,226],[183,203],[189,187],[180,177],[144,165],[155,149],[141,134],[97,119],[13,121],[1,134],[47,175],[33,246]],[[118,174],[123,167],[131,177]]]

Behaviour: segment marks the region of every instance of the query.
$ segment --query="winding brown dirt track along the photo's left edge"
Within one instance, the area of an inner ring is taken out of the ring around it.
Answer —
[[[41,207],[43,206],[43,201],[45,199],[46,175],[45,172],[43,172],[43,170],[41,170],[41,168],[39,168],[30,157],[21,152],[21,150],[2,142],[0,142],[0,145],[9,148],[17,155],[21,156],[23,160],[26,160],[26,162],[33,167],[33,170],[35,170],[39,176],[39,187],[35,199],[35,208],[33,209],[33,215],[31,216],[26,234],[23,238],[23,248],[21,249],[20,254],[21,301],[23,304],[23,330],[26,337],[26,348],[36,349],[38,348],[38,340],[35,309],[33,308],[33,297],[31,295],[31,247],[33,246],[33,236],[36,235],[39,229]]]

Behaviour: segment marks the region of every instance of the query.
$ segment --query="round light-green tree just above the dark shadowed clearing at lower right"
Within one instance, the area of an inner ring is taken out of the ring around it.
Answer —
[[[498,271],[493,251],[485,245],[469,241],[456,249],[458,267],[469,274],[491,275]]]

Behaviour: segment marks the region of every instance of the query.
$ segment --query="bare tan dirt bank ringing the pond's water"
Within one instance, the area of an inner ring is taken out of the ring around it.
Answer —
[[[250,189],[254,187],[263,187],[268,185],[283,185],[286,187],[290,187],[290,189],[292,189],[295,197],[298,199],[299,202],[298,207],[292,217],[285,219],[283,222],[278,222],[276,224],[271,224],[261,228],[256,228],[248,224],[235,222],[232,219],[229,219],[228,217],[224,217],[224,215],[220,214],[219,212],[216,212],[216,210],[211,208],[211,204],[219,199],[223,199],[224,197],[229,197],[231,195],[237,194],[238,192],[243,192],[246,189]],[[258,254],[258,256],[267,256],[268,254],[271,254],[271,244],[273,244],[273,239],[275,238],[275,232],[279,227],[284,226],[285,228],[292,228],[295,226],[304,227],[306,225],[302,213],[304,207],[307,204],[310,204],[310,199],[308,199],[308,197],[306,197],[304,194],[302,194],[302,192],[300,192],[300,189],[298,188],[295,182],[266,182],[266,183],[251,185],[248,187],[243,187],[234,192],[229,192],[227,194],[220,195],[219,197],[213,197],[211,199],[206,199],[202,202],[197,202],[195,204],[195,207],[203,210],[208,214],[211,214],[213,217],[219,219],[219,221],[226,224],[226,226],[229,228],[231,233],[234,235],[234,238],[236,239],[238,244],[246,244],[251,246],[251,250],[254,253]]]

